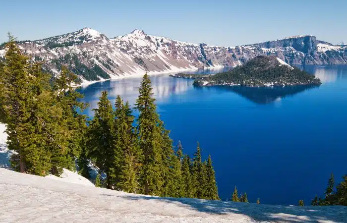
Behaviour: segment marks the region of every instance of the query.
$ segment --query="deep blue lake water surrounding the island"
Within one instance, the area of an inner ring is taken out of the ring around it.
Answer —
[[[220,196],[233,188],[250,202],[310,204],[331,172],[347,174],[347,66],[306,66],[320,87],[195,88],[192,81],[151,76],[158,111],[175,143],[211,154]],[[205,72],[209,73],[211,71]],[[97,106],[102,91],[134,103],[140,78],[95,83],[81,92]],[[86,111],[92,116],[91,109]]]

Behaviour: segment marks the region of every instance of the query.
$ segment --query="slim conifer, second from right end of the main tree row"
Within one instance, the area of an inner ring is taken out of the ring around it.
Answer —
[[[204,199],[205,198],[205,166],[201,161],[201,149],[199,142],[197,143],[196,152],[194,153],[193,158],[193,174],[194,174],[194,185],[196,188],[196,197]]]

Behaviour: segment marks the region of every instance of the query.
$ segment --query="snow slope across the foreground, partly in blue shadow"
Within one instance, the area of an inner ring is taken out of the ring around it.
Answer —
[[[67,183],[0,168],[1,222],[344,222],[346,207],[173,199]]]

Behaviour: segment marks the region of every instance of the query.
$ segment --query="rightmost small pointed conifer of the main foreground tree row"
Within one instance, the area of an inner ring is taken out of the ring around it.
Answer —
[[[219,200],[218,189],[216,185],[215,170],[212,166],[211,155],[208,156],[206,163],[206,185],[205,185],[206,199]]]

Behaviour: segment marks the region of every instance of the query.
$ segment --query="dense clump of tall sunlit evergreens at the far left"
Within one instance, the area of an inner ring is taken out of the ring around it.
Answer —
[[[82,96],[72,90],[72,75],[63,69],[52,87],[42,63],[30,63],[9,38],[0,64],[0,111],[8,148],[17,152],[11,166],[36,175],[74,169],[86,124],[85,116],[76,111],[85,105],[77,102]]]

